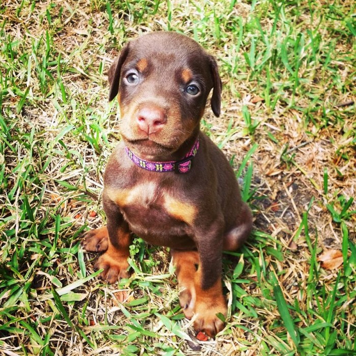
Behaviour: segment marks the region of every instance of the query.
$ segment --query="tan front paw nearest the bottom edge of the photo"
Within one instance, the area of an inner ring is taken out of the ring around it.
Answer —
[[[218,313],[221,313],[226,317],[227,307],[225,301],[219,301],[213,306],[197,301],[195,307],[196,319],[194,321],[194,329],[196,331],[202,331],[212,338],[215,337],[215,335],[222,331],[225,326],[224,322],[216,316]]]

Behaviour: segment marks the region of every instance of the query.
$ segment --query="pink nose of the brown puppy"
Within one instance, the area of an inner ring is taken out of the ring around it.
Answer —
[[[137,125],[146,134],[162,130],[166,121],[164,110],[153,104],[142,106],[137,114]]]

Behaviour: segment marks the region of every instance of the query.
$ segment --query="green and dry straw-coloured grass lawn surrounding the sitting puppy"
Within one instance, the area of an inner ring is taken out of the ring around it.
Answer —
[[[0,354],[355,355],[352,1],[29,0],[0,9]],[[185,33],[214,54],[222,115],[202,129],[236,171],[255,230],[224,254],[229,318],[199,342],[169,254],[136,239],[107,286],[79,246],[105,220],[120,139],[105,73],[126,41]],[[319,256],[341,253],[339,268]]]

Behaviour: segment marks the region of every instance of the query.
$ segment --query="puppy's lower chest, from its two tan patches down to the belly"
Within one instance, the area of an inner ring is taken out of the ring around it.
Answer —
[[[193,204],[153,182],[109,192],[109,197],[120,207],[136,233],[155,234],[163,226],[169,230],[182,226],[182,223],[191,226],[196,215]]]

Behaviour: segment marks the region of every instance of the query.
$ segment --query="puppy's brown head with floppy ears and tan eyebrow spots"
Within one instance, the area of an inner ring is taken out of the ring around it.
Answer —
[[[109,100],[116,95],[120,131],[146,159],[170,157],[196,137],[207,96],[220,114],[221,80],[214,58],[192,39],[156,32],[126,44],[109,69]]]

